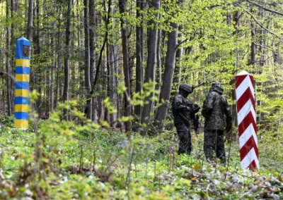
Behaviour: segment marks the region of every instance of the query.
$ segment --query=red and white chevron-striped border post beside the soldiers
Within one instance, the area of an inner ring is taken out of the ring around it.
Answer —
[[[241,166],[257,170],[258,137],[256,135],[255,89],[253,76],[242,71],[236,75],[236,99]]]

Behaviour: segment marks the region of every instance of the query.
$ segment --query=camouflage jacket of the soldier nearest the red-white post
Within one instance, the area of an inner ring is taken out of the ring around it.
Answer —
[[[231,129],[232,115],[228,102],[219,92],[210,91],[204,100],[202,115],[205,118],[205,130]]]

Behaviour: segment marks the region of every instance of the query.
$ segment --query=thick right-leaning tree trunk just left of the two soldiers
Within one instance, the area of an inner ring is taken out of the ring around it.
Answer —
[[[166,53],[165,70],[163,74],[163,85],[161,87],[161,94],[159,98],[159,104],[156,112],[156,122],[158,123],[159,130],[163,128],[163,121],[166,118],[168,112],[168,101],[171,94],[172,82],[175,69],[175,57],[178,38],[178,26],[176,23],[172,23],[173,31],[168,36],[168,50]]]

